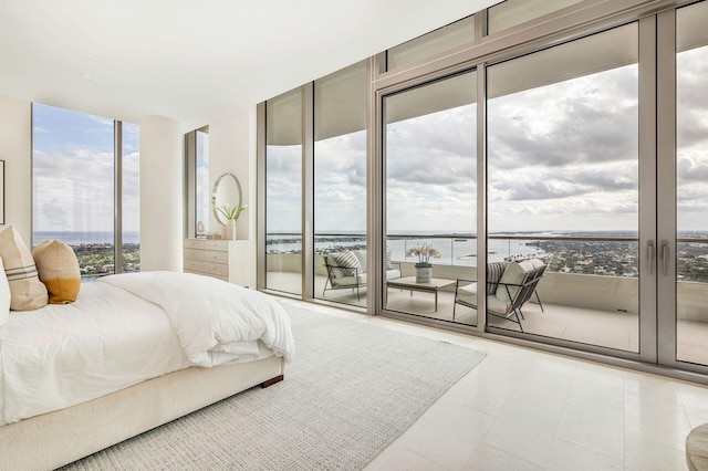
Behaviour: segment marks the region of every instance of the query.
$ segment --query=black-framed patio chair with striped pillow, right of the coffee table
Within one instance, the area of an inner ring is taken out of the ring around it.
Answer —
[[[524,316],[521,307],[535,293],[544,271],[545,264],[538,259],[489,263],[486,290],[488,314],[519,324],[519,328],[523,332],[521,320]],[[455,320],[457,304],[477,308],[477,290],[476,281],[457,280],[452,320]]]

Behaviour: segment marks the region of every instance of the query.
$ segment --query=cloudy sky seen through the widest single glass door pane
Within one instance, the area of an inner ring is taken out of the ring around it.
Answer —
[[[489,231],[636,232],[637,95],[635,64],[490,100]]]

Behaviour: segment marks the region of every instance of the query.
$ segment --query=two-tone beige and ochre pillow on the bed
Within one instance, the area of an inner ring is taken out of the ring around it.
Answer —
[[[45,240],[32,250],[46,285],[50,304],[66,304],[76,301],[81,290],[81,270],[74,250],[61,240]]]

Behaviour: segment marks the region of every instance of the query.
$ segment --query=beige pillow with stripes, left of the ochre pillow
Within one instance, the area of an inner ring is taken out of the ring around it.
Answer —
[[[0,258],[10,284],[10,308],[32,311],[44,307],[48,301],[46,286],[37,274],[32,252],[12,226],[0,232]]]

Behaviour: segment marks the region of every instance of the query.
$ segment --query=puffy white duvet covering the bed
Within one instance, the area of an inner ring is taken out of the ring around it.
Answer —
[[[84,283],[76,302],[11,312],[0,327],[0,425],[63,409],[192,365],[290,358],[280,304],[171,272]]]

